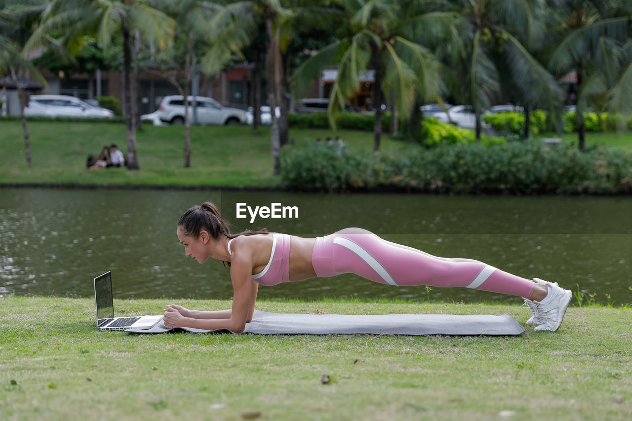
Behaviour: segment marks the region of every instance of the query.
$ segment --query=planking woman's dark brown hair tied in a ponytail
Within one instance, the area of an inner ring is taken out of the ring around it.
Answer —
[[[182,231],[188,237],[197,237],[204,229],[209,232],[212,238],[216,239],[224,235],[228,238],[236,238],[240,235],[267,234],[268,230],[262,228],[258,231],[243,231],[237,234],[231,234],[228,228],[229,223],[224,221],[217,207],[211,202],[204,202],[202,205],[193,206],[182,214],[178,221],[178,227],[182,227]]]

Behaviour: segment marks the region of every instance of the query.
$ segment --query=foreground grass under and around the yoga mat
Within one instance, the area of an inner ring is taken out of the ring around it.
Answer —
[[[188,308],[228,301],[179,300]],[[118,315],[166,300],[116,300]],[[259,302],[272,312],[503,314],[518,305]],[[628,420],[632,309],[511,337],[97,332],[89,298],[0,298],[3,420]],[[329,383],[321,382],[329,375]],[[504,412],[505,411],[505,412]],[[245,417],[246,415],[246,417]],[[254,416],[254,415],[252,415]]]

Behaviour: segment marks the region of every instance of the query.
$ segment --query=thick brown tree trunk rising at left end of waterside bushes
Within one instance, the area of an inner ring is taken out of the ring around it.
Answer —
[[[272,124],[270,125],[270,143],[272,145],[272,171],[279,174],[281,169],[281,160],[279,152],[281,152],[281,137],[279,133],[279,119],[276,118],[276,106],[279,95],[279,34],[273,34],[272,32],[272,17],[268,16],[265,20],[265,28],[268,35],[268,54],[267,54],[267,68],[268,68],[268,102],[270,106],[270,116],[272,117]]]

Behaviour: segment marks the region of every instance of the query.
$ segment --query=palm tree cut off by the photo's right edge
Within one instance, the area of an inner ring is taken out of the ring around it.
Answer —
[[[632,39],[629,13],[618,1],[552,0],[557,15],[559,40],[549,57],[549,68],[561,75],[577,73],[578,147],[585,149],[583,114],[592,106],[619,115],[632,112]],[[628,5],[629,6],[629,5]]]

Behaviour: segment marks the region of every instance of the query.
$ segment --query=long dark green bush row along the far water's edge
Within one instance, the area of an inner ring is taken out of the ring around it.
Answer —
[[[403,153],[337,156],[327,145],[285,147],[281,180],[298,190],[423,192],[632,192],[632,153],[580,152],[540,142],[440,144]]]

